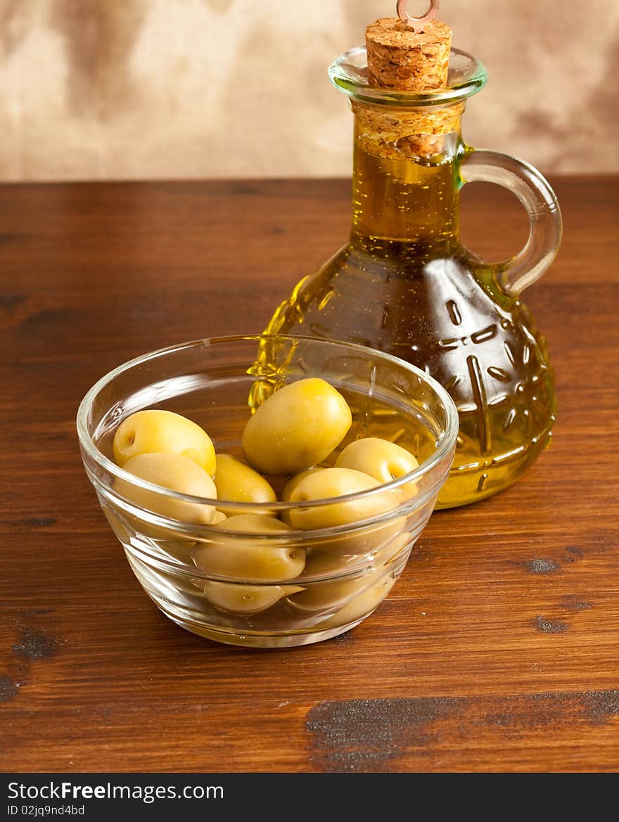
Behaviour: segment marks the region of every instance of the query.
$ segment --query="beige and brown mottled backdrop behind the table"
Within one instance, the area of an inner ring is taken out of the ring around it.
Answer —
[[[348,175],[351,114],[326,68],[394,13],[395,0],[0,0],[0,179]],[[490,75],[465,115],[471,145],[546,173],[619,171],[617,0],[442,0],[440,16]]]

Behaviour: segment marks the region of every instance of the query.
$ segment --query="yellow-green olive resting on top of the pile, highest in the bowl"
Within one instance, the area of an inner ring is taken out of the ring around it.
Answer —
[[[247,421],[243,451],[261,473],[305,471],[344,439],[352,415],[344,397],[310,377],[275,391]]]

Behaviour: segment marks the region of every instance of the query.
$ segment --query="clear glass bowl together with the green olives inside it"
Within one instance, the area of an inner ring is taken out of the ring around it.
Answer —
[[[270,418],[282,396],[285,412]],[[152,410],[189,420],[186,441],[159,431],[152,447],[164,450],[146,453],[175,456],[118,464],[117,432]],[[389,354],[247,335],[122,364],[85,395],[77,430],[99,503],[157,607],[210,640],[273,648],[344,633],[380,605],[446,481],[458,416],[437,381]],[[354,446],[370,439],[404,455]]]

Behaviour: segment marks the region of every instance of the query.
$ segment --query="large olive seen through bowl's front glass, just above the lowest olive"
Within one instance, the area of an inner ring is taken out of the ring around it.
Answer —
[[[260,533],[290,531],[289,525],[275,517],[238,514],[219,523],[221,536],[210,543],[201,543],[192,551],[198,568],[214,576],[230,577],[247,582],[285,582],[293,580],[305,567],[305,551],[296,545],[272,546]],[[239,536],[235,536],[236,532]],[[252,538],[252,534],[256,534]]]

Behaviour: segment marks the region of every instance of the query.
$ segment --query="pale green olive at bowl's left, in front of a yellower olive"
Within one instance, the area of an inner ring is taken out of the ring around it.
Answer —
[[[205,496],[211,500],[217,496],[215,483],[206,471],[192,459],[178,454],[139,454],[127,460],[122,468],[135,477],[169,488],[170,491]],[[114,489],[134,505],[182,523],[208,525],[213,521],[215,514],[214,506],[176,500],[163,493],[147,491],[146,488],[133,485],[125,479],[116,479]],[[167,532],[141,521],[136,521],[136,530],[155,538],[169,536]]]

